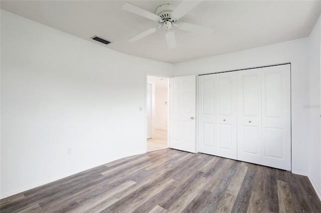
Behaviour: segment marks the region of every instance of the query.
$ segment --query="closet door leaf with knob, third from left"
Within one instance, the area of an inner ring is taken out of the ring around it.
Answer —
[[[249,69],[237,78],[237,159],[261,164],[261,75]]]

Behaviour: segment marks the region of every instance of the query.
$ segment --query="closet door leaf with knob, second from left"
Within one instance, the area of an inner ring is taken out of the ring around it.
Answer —
[[[237,73],[216,75],[216,155],[237,158]]]

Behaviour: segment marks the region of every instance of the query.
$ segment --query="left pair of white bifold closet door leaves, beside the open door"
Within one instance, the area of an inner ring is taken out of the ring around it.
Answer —
[[[199,151],[237,158],[236,72],[199,76]]]

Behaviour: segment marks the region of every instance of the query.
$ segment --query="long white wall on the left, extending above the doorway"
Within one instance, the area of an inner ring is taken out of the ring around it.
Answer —
[[[2,198],[145,152],[145,72],[173,71],[5,10],[1,62]]]

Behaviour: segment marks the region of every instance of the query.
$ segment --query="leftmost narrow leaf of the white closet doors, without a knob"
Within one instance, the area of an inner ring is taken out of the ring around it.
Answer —
[[[215,75],[199,76],[199,151],[216,154]]]

